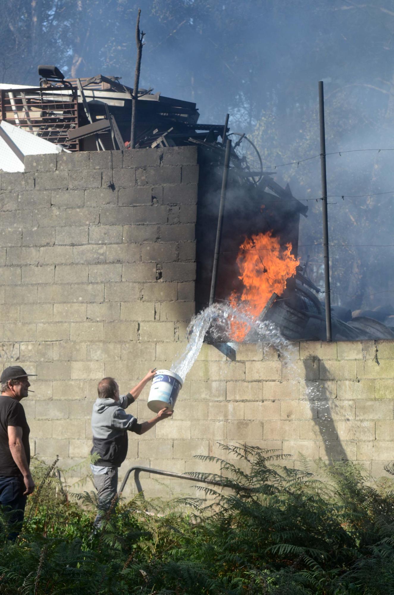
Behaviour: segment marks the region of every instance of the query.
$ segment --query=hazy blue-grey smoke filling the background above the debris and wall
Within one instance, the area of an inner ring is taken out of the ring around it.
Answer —
[[[392,2],[145,0],[142,87],[195,101],[201,122],[250,135],[265,166],[320,152],[317,83],[326,93],[327,152],[394,148]],[[132,85],[132,0],[0,0],[0,80],[36,84],[36,65],[66,76],[110,74]],[[394,152],[327,157],[333,303],[394,303]],[[319,159],[277,167],[299,199],[320,198]],[[342,199],[342,195],[344,199]],[[300,254],[323,287],[321,203],[308,202]],[[343,246],[346,244],[346,246]],[[357,245],[357,246],[352,246]],[[365,246],[359,246],[365,245]]]

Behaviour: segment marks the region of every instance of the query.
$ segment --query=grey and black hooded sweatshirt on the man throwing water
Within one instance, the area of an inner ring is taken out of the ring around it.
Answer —
[[[141,424],[126,409],[134,402],[132,394],[123,394],[118,401],[96,399],[92,413],[93,447],[90,454],[99,455],[95,465],[120,467],[127,455],[127,430],[141,431]]]

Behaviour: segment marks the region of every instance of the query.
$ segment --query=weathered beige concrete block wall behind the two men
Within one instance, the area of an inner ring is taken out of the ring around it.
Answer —
[[[185,347],[198,176],[186,147],[32,156],[25,173],[0,173],[0,365],[37,373],[23,405],[43,459],[86,458],[104,375],[127,392]],[[204,345],[173,419],[130,434],[120,476],[134,464],[217,470],[193,456],[224,455],[218,442],[349,458],[382,475],[394,459],[394,342],[294,346],[288,365],[265,345],[239,346],[235,362]],[[139,421],[152,417],[147,397],[129,409]],[[140,479],[149,496],[190,490]]]

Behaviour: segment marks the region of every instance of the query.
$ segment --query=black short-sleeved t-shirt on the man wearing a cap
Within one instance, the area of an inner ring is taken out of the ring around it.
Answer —
[[[0,394],[0,477],[14,477],[21,475],[18,465],[11,455],[8,445],[8,426],[18,425],[22,428],[22,443],[26,453],[27,465],[30,465],[30,428],[27,425],[26,415],[21,404],[9,397]]]

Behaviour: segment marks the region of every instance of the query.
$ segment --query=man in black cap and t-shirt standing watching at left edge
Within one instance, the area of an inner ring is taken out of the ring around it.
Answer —
[[[0,383],[0,505],[10,511],[8,522],[13,527],[8,538],[14,541],[23,522],[26,497],[35,488],[29,468],[30,428],[20,404],[30,383],[20,366],[5,368]]]

